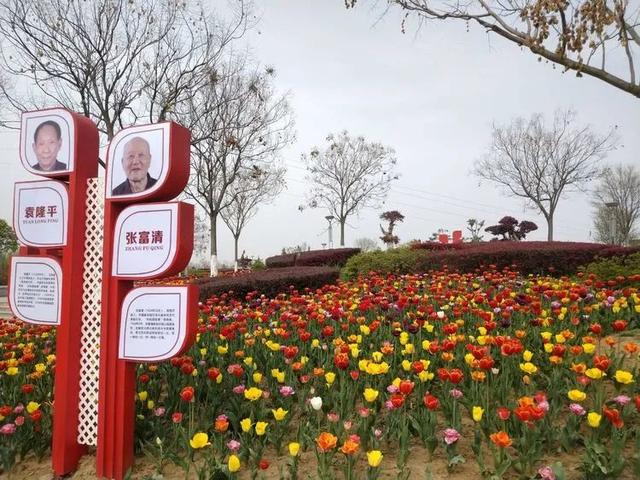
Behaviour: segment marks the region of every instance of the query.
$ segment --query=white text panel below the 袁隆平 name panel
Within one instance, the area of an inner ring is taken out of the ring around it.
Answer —
[[[20,320],[60,325],[62,269],[53,258],[13,257],[9,305]]]

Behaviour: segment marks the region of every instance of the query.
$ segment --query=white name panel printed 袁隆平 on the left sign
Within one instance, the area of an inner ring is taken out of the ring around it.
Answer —
[[[67,243],[69,192],[56,180],[20,182],[13,193],[13,227],[30,247],[63,247]]]

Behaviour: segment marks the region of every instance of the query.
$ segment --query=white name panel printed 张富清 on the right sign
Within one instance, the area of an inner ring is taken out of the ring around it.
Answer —
[[[127,278],[157,276],[176,255],[178,204],[134,205],[116,222],[113,275]]]

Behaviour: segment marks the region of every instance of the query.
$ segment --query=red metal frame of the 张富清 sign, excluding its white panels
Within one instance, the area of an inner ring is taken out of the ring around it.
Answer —
[[[152,126],[150,126],[151,128]],[[109,145],[107,175],[114,161],[112,148],[127,129],[119,132]],[[121,480],[133,465],[135,425],[136,364],[118,358],[122,302],[133,288],[133,281],[113,276],[112,260],[115,225],[128,205],[170,200],[179,194],[189,178],[190,132],[178,124],[169,127],[169,173],[153,192],[135,197],[106,197],[104,212],[104,256],[102,271],[102,331],[100,336],[100,394],[98,409],[98,448],[96,475]],[[105,187],[109,186],[106,182]],[[177,235],[178,249],[173,264],[163,273],[172,275],[184,269],[193,249],[193,206],[183,204],[184,223]],[[180,244],[184,247],[180,247]],[[192,294],[193,295],[193,294]],[[197,298],[197,289],[195,296]],[[191,319],[192,323],[194,319]],[[190,330],[194,326],[188,327]],[[193,335],[191,335],[193,338]],[[188,345],[186,345],[188,347]]]

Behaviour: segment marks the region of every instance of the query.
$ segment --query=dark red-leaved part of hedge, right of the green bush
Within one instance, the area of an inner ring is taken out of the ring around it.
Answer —
[[[612,247],[600,243],[577,242],[488,242],[458,251],[433,252],[431,268],[447,266],[450,270],[473,271],[488,265],[510,267],[523,274],[575,273],[578,267],[596,257],[624,256],[640,251],[640,247]]]

